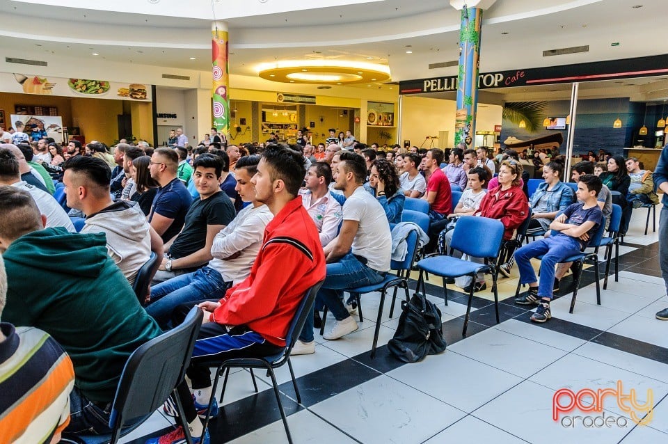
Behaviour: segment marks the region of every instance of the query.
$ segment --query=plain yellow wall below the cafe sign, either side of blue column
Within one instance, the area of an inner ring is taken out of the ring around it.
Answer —
[[[434,139],[438,148],[454,146],[454,100],[429,99],[427,97],[404,96],[401,109],[401,134],[399,143],[410,140],[411,145],[429,147],[427,136],[438,136],[439,131],[448,132],[448,140]],[[501,106],[479,104],[476,131],[493,131],[494,125],[501,125]]]

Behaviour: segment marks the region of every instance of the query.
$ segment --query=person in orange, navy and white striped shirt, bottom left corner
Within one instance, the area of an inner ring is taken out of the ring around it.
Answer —
[[[0,318],[7,275],[0,256]],[[58,443],[70,423],[72,360],[34,327],[0,323],[0,443]]]

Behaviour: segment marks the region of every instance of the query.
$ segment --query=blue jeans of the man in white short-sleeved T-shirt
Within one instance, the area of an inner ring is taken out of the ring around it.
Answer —
[[[339,262],[327,264],[325,282],[316,296],[315,305],[319,306],[324,303],[336,320],[342,321],[350,316],[343,305],[343,290],[377,284],[383,281],[385,274],[367,267],[352,253],[348,253]],[[313,340],[313,310],[306,317],[299,340],[301,342]]]

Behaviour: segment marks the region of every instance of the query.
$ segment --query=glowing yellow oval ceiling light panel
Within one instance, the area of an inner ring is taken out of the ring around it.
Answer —
[[[299,84],[363,84],[390,79],[390,67],[377,63],[302,60],[262,63],[257,67],[262,79]]]

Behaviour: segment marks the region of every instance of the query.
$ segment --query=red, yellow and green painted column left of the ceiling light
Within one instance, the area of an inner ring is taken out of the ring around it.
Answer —
[[[219,133],[230,135],[230,63],[228,24],[213,22],[211,26],[212,74],[211,95],[214,102],[214,127]]]

